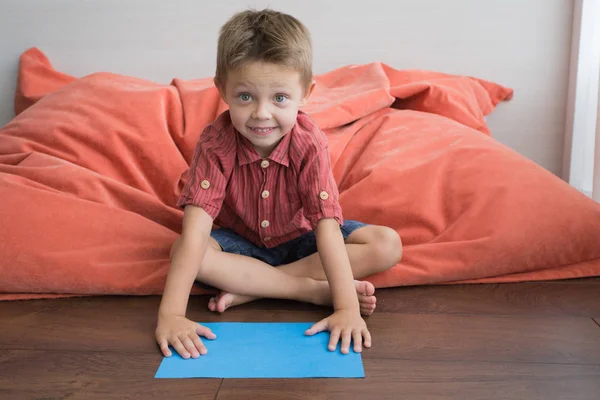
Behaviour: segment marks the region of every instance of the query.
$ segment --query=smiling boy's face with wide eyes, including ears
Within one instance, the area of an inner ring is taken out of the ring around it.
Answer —
[[[228,72],[225,87],[217,87],[229,105],[233,126],[264,158],[293,128],[298,108],[308,100],[314,83],[306,91],[298,71],[252,61]]]

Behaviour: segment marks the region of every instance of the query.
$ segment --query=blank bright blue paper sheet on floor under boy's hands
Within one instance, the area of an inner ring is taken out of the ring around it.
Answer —
[[[329,351],[329,332],[306,336],[312,323],[202,323],[217,335],[202,341],[199,358],[164,357],[155,378],[363,378],[362,357],[340,345]]]

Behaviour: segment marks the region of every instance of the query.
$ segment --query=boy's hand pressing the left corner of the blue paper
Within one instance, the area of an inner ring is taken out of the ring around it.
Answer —
[[[183,358],[198,358],[206,354],[206,346],[198,337],[215,339],[217,336],[207,327],[190,321],[181,315],[167,315],[158,318],[156,341],[165,357],[171,356],[169,345]]]

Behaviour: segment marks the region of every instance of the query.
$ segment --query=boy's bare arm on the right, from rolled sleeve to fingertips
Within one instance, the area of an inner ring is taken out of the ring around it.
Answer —
[[[342,353],[349,352],[351,341],[354,341],[354,351],[360,352],[363,340],[365,347],[371,347],[371,334],[360,316],[350,260],[337,221],[322,219],[317,224],[315,235],[321,264],[331,288],[335,312],[314,324],[306,334],[313,335],[329,330],[329,350],[335,350],[341,339]]]

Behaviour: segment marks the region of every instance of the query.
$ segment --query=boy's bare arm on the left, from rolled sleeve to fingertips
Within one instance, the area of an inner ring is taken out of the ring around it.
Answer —
[[[215,338],[210,329],[185,317],[192,285],[206,254],[211,227],[212,218],[203,209],[186,206],[183,231],[173,251],[158,312],[156,340],[165,356],[171,355],[171,345],[183,358],[198,357],[207,352],[198,335]]]

